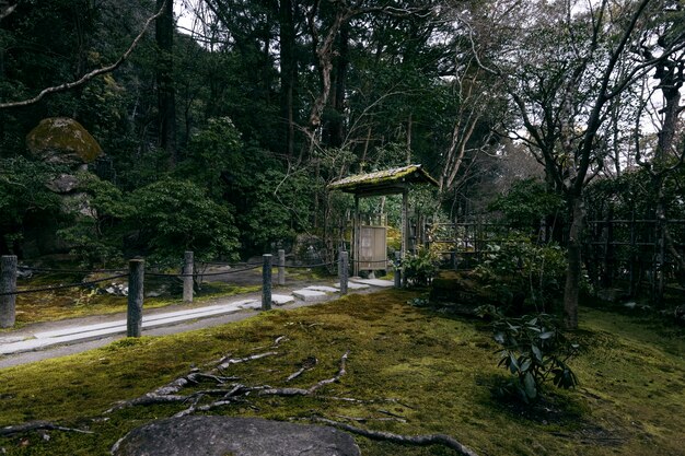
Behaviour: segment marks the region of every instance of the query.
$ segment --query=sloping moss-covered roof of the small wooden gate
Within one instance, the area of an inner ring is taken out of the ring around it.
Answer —
[[[438,186],[436,179],[421,165],[407,165],[348,176],[328,185],[328,189],[356,195],[392,195],[402,192],[407,184],[432,184]]]

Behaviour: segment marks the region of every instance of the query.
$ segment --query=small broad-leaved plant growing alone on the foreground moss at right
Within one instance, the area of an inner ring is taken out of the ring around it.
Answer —
[[[502,347],[497,351],[498,365],[513,376],[498,388],[502,396],[531,404],[539,398],[543,384],[549,378],[559,388],[578,385],[567,362],[578,353],[579,346],[564,336],[553,316],[507,317],[492,306],[481,307],[479,315],[492,318],[494,339]]]

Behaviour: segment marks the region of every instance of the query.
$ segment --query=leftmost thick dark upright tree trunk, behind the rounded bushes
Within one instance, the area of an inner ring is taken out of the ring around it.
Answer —
[[[174,2],[156,0],[156,8],[164,13],[155,23],[158,45],[156,91],[159,109],[159,143],[176,163],[176,94],[174,90]]]

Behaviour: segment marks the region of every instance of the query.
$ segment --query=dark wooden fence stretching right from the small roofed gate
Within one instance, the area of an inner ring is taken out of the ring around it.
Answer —
[[[510,226],[485,221],[421,223],[411,229],[415,245],[432,246],[443,266],[472,269],[488,245],[508,238]],[[545,223],[527,233],[536,243],[552,239],[554,226]],[[565,243],[565,231],[559,241]],[[680,258],[678,258],[680,257]],[[685,220],[589,220],[583,236],[583,264],[595,290],[615,289],[629,297],[647,296],[661,305],[671,291],[685,294]]]

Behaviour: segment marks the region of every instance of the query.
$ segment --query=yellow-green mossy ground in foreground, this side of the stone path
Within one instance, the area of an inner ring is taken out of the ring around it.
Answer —
[[[685,337],[654,321],[584,308],[579,338],[585,351],[572,362],[581,387],[549,391],[531,410],[498,401],[491,386],[502,375],[483,323],[446,317],[407,301],[416,294],[353,294],[297,311],[271,311],[223,327],[184,335],[124,339],[103,349],[0,371],[0,425],[53,420],[89,428],[93,435],[50,432],[0,439],[8,454],[104,455],[135,426],[185,408],[138,407],[103,420],[113,404],[187,373],[210,369],[227,353],[245,356],[288,340],[279,355],[231,366],[246,385],[285,386],[302,360],[320,364],[292,386],[330,377],[350,350],[347,375],[317,397],[249,398],[218,411],[288,420],[323,416],[369,419],[355,423],[403,434],[446,433],[480,455],[682,455],[685,442]],[[325,396],[393,398],[349,404]],[[406,423],[374,421],[388,414]],[[365,456],[451,455],[425,448],[357,441]]]

